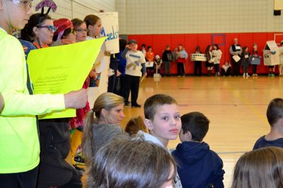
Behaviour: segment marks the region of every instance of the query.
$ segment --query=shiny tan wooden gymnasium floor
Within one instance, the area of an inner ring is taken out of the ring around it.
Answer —
[[[156,93],[173,96],[181,114],[199,111],[210,120],[204,141],[224,161],[224,183],[230,187],[233,167],[238,158],[253,148],[255,141],[269,130],[265,112],[273,98],[283,97],[283,78],[243,77],[166,77],[161,81],[146,78],[140,85],[141,108],[125,108],[123,125],[131,117],[144,117],[146,98]],[[170,141],[175,148],[179,139]]]

